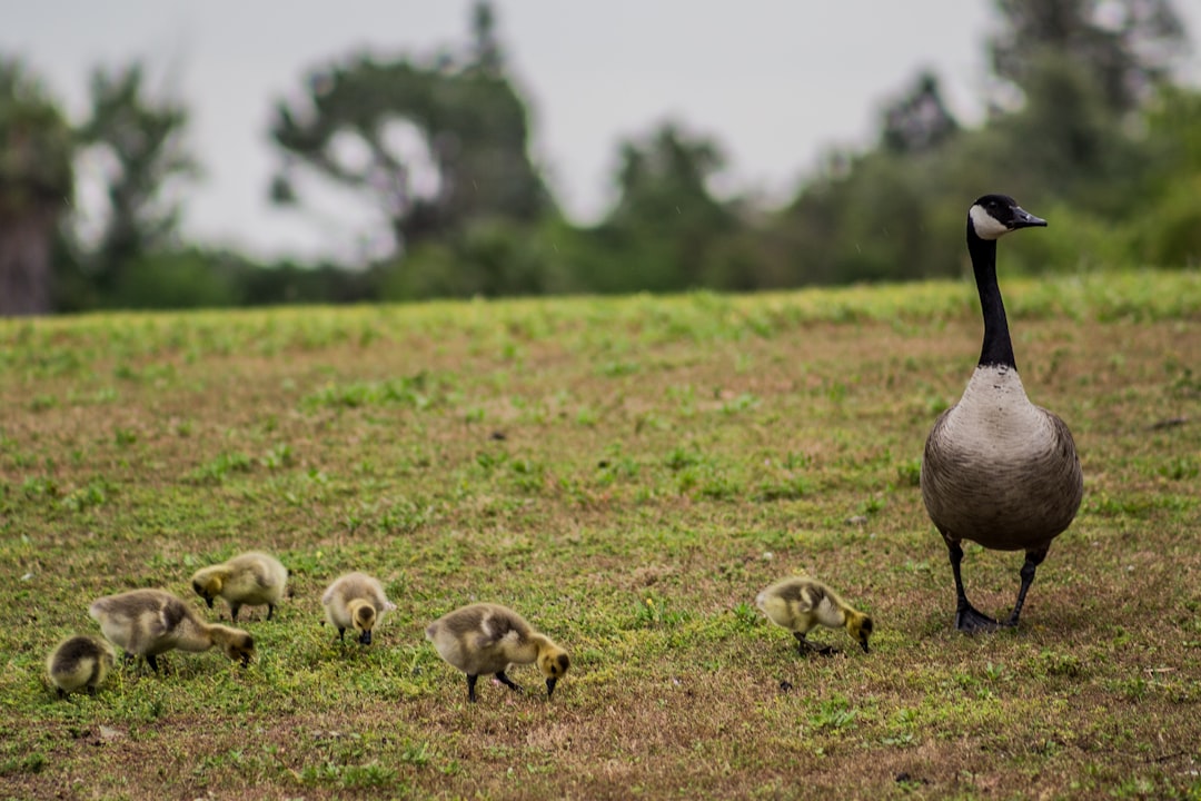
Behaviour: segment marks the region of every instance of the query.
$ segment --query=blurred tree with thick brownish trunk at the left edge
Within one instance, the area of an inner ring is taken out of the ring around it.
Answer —
[[[71,128],[14,60],[0,59],[0,315],[50,311],[50,250],[72,197]]]

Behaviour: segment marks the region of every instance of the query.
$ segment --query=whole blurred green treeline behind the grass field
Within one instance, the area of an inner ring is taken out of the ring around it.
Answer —
[[[964,127],[933,73],[885,102],[877,143],[833,150],[782,208],[719,198],[721,144],[667,124],[620,144],[617,199],[573,225],[528,155],[526,103],[491,6],[430,60],[353,55],[276,104],[280,204],[336,185],[388,221],[365,269],[261,264],[183,243],[199,173],[187,109],[133,64],[97,70],[71,122],[16,61],[0,61],[0,312],[348,303],[431,297],[751,291],[898,281],[964,269],[964,209],[1006,191],[1053,235],[1006,269],[1201,261],[1201,92],[1173,82],[1188,38],[1170,0],[997,0],[996,91]],[[107,215],[68,214],[74,165],[109,165]],[[349,154],[349,155],[348,155]],[[353,157],[352,157],[353,156]],[[305,180],[298,180],[304,178]]]

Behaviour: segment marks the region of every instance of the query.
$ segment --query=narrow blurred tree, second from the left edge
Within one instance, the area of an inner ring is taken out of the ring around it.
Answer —
[[[171,241],[180,214],[171,190],[199,171],[184,143],[187,109],[150,97],[141,64],[97,68],[90,89],[90,116],[76,136],[83,153],[102,154],[108,165],[108,207],[83,261],[104,293],[123,282],[135,262]]]

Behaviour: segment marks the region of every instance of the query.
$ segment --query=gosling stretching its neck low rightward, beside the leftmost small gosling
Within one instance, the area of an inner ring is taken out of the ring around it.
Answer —
[[[145,657],[157,673],[155,657],[165,651],[208,651],[216,646],[243,665],[255,653],[246,632],[204,622],[191,605],[165,590],[131,590],[92,602],[88,614],[112,642],[125,648],[125,658]]]

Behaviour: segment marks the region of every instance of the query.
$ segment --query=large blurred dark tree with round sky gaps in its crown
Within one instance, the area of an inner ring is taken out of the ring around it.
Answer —
[[[459,234],[472,220],[531,222],[551,210],[494,24],[491,6],[477,4],[466,58],[362,55],[311,74],[306,97],[279,103],[271,122],[285,155],[274,199],[295,202],[294,173],[306,168],[371,198],[398,249]]]

